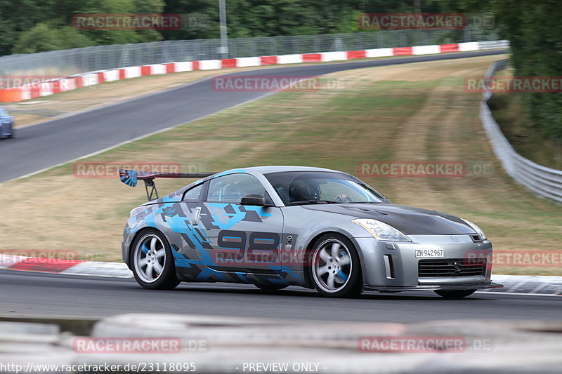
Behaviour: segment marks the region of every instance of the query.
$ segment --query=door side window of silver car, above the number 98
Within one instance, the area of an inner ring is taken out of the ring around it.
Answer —
[[[230,174],[214,178],[209,183],[207,201],[240,203],[242,196],[259,194],[266,196],[266,189],[253,175]]]

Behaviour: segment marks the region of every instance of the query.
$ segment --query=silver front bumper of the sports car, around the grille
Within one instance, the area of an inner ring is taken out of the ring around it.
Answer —
[[[469,290],[492,283],[492,243],[471,235],[410,235],[412,242],[354,238],[360,248],[365,290]],[[416,249],[441,249],[443,257],[417,258]]]

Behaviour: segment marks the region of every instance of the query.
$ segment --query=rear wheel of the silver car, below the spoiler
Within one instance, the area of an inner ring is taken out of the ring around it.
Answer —
[[[143,288],[171,290],[178,286],[180,282],[176,276],[174,256],[162,232],[156,229],[144,230],[133,241],[131,249],[131,269]]]

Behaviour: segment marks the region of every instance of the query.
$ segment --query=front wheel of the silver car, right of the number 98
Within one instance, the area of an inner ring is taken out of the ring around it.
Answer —
[[[315,242],[308,272],[314,288],[327,298],[354,298],[363,291],[361,264],[355,246],[340,234]]]

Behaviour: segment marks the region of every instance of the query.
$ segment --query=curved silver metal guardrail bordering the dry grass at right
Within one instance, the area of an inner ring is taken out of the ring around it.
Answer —
[[[494,62],[488,69],[488,72],[486,72],[486,76],[494,76],[498,70],[506,67],[507,62],[509,60]],[[529,159],[525,159],[525,157],[518,154],[511,147],[509,140],[502,133],[488,106],[488,100],[492,97],[493,93],[491,91],[483,94],[483,101],[480,106],[480,119],[486,133],[488,133],[492,149],[494,149],[494,153],[499,161],[502,162],[504,170],[516,182],[527,187],[532,192],[562,203],[562,171],[547,168]]]

